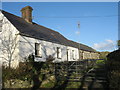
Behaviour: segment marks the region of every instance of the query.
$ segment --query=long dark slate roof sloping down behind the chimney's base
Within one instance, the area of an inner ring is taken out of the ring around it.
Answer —
[[[46,28],[42,25],[38,25],[34,22],[33,24],[30,24],[26,22],[23,18],[3,10],[2,10],[2,13],[19,30],[21,35],[25,35],[25,36],[40,39],[40,40],[50,41],[50,42],[54,42],[54,43],[58,43],[66,46],[72,46],[75,48],[80,47],[79,49],[85,50],[85,51],[96,52],[91,47],[68,40],[59,32],[56,32],[52,29]]]

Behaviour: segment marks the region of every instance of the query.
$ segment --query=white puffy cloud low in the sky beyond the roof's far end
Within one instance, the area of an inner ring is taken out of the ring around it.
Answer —
[[[104,42],[94,43],[93,48],[96,50],[115,50],[116,42],[107,39]]]

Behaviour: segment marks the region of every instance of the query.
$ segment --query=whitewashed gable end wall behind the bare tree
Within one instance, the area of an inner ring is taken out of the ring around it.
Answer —
[[[9,22],[9,20],[0,12],[2,27],[0,32],[0,61],[8,65],[11,56],[11,66],[17,67],[19,63],[19,36],[18,30]]]

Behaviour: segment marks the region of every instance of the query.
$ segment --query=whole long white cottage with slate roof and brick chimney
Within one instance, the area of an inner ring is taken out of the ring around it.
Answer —
[[[92,54],[99,57],[91,47],[70,41],[59,32],[32,22],[32,10],[30,6],[22,8],[22,17],[1,10],[0,60],[3,64],[17,67],[30,54],[34,55],[35,61],[46,61],[52,56],[56,62],[88,59],[86,53],[87,57]]]

